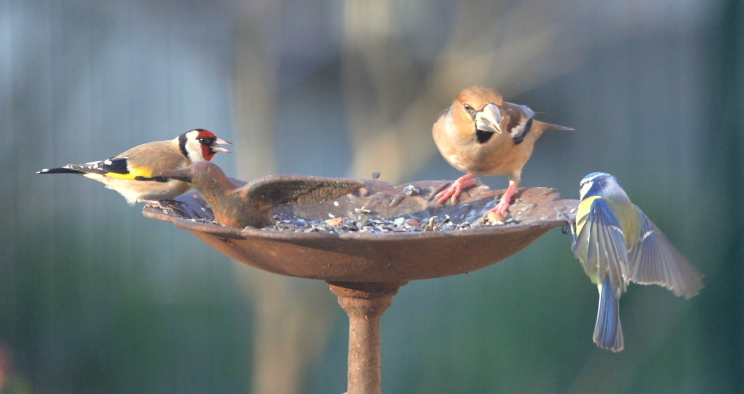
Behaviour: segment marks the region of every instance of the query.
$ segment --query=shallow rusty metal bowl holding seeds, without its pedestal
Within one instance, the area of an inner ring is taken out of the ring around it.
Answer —
[[[386,218],[449,215],[452,221],[476,220],[493,207],[502,190],[474,187],[458,205],[439,206],[433,196],[448,181],[418,181],[422,191],[408,196],[408,184],[393,186],[365,180],[362,189],[333,201],[278,207],[280,219],[356,217],[364,207]],[[565,225],[557,212],[573,217],[577,200],[560,200],[552,189],[519,189],[509,213],[519,224],[416,233],[295,233],[216,225],[211,209],[190,191],[177,200],[182,210],[145,207],[144,216],[173,222],[233,259],[276,274],[342,282],[405,282],[463,274],[484,268],[525,248],[552,227]],[[334,201],[337,204],[334,204]],[[338,206],[336,206],[338,205]]]

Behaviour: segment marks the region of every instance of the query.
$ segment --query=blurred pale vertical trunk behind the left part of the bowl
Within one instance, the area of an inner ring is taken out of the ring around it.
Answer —
[[[234,119],[237,174],[254,179],[276,172],[274,124],[278,59],[269,48],[280,1],[246,2],[237,50]],[[236,266],[237,280],[254,306],[251,393],[301,393],[308,366],[325,347],[335,318],[323,282]]]

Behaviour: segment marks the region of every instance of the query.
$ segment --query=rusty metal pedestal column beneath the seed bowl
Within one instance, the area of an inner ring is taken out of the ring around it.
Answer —
[[[329,282],[349,315],[347,394],[379,394],[379,318],[403,283]]]

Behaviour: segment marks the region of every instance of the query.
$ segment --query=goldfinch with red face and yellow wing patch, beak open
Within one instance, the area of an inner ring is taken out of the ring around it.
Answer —
[[[188,167],[208,161],[217,152],[230,152],[220,144],[231,144],[205,129],[193,129],[170,141],[154,141],[101,161],[45,168],[37,174],[77,174],[99,181],[120,193],[130,205],[170,200],[191,188],[184,181],[162,178],[164,169]]]

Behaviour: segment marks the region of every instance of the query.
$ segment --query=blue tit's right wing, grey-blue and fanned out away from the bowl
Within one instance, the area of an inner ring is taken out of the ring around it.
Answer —
[[[643,285],[661,285],[677,297],[693,297],[702,288],[702,274],[682,256],[660,230],[635,207],[643,218],[641,237],[628,252],[629,280]]]

